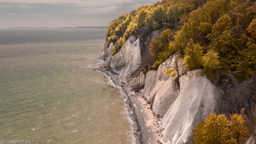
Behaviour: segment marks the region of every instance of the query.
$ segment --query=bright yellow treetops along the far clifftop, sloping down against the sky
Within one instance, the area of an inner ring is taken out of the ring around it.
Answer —
[[[144,25],[149,25],[154,29],[174,28],[182,15],[188,14],[205,1],[163,0],[153,5],[144,5],[112,21],[107,29],[107,39],[114,44],[121,37],[125,41]],[[116,52],[118,51],[113,51],[113,54]]]

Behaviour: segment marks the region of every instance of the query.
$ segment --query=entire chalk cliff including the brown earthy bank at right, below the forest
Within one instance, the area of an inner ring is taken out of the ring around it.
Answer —
[[[149,53],[151,40],[158,36],[160,31],[153,31],[143,40],[130,36],[114,55],[113,43],[106,40],[103,57],[105,67],[135,87],[144,87],[140,94],[150,104],[153,114],[161,118],[160,135],[165,143],[191,144],[196,123],[204,120],[211,112],[228,115],[245,108],[251,130],[256,128],[255,75],[250,81],[242,83],[236,82],[232,76],[222,76],[216,81],[210,81],[201,74],[201,69],[187,71],[183,59],[176,54],[162,63],[158,70],[144,74],[143,56]],[[180,76],[166,75],[165,71],[174,66],[175,60],[180,67]],[[251,143],[248,141],[247,144]]]

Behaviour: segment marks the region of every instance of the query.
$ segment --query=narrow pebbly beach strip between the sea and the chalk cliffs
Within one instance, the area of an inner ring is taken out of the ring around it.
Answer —
[[[97,59],[105,62],[102,58]],[[165,144],[160,135],[160,119],[153,115],[150,104],[143,98],[143,90],[135,92],[134,86],[116,72],[104,70],[101,66],[94,70],[109,76],[114,85],[120,87],[128,117],[132,121],[135,144]]]

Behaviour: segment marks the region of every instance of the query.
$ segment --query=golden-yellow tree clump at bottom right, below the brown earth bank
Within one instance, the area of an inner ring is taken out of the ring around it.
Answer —
[[[244,144],[248,139],[246,121],[239,114],[230,115],[230,121],[224,114],[210,114],[205,121],[197,123],[194,132],[194,144]]]

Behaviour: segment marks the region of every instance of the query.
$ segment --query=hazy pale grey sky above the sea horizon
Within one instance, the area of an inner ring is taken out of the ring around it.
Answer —
[[[160,0],[0,0],[0,28],[108,26]]]

